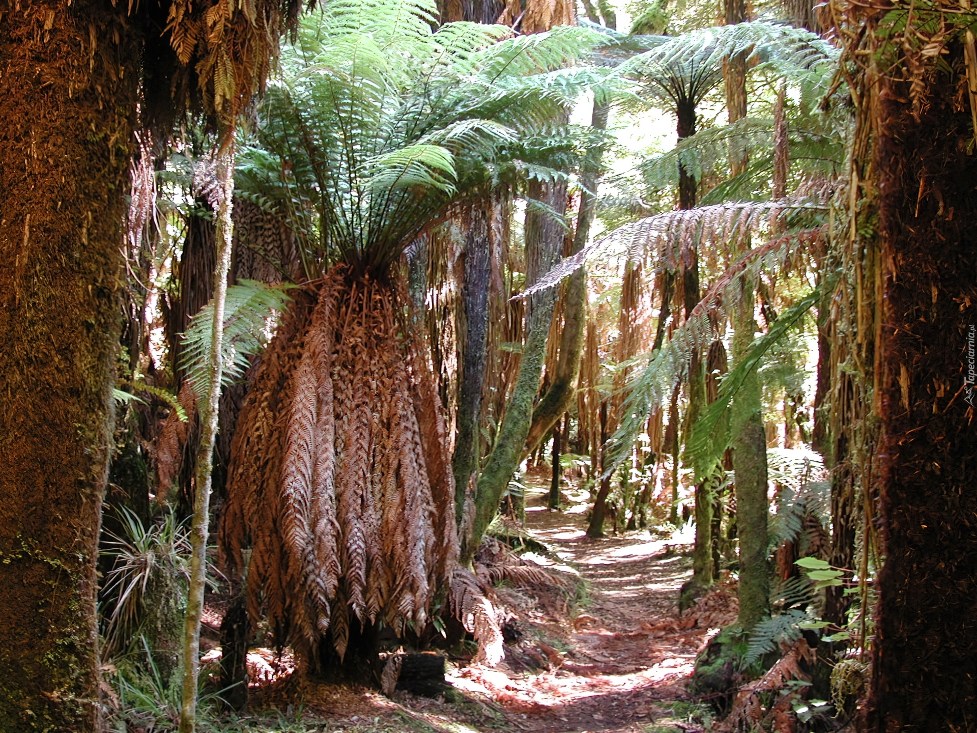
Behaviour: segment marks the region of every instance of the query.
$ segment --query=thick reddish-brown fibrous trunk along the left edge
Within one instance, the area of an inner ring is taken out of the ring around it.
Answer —
[[[108,3],[3,12],[0,730],[92,731],[139,48]]]

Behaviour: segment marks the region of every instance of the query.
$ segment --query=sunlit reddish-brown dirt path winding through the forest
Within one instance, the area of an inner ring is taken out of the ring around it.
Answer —
[[[496,669],[463,668],[451,681],[487,693],[514,726],[533,733],[701,730],[682,714],[690,706],[676,705],[689,700],[685,688],[709,631],[694,627],[695,617],[679,616],[679,589],[691,578],[692,559],[691,546],[676,540],[687,539],[645,531],[589,539],[585,494],[570,492],[570,506],[548,511],[544,489],[530,481],[526,529],[580,574],[589,602],[565,617],[563,633],[552,624],[546,632],[545,613],[519,614],[533,625],[535,648],[549,656],[549,669],[520,672],[507,660]],[[505,588],[498,592],[503,601],[513,597]]]

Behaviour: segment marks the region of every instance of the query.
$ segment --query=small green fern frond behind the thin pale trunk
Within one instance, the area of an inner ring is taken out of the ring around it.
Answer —
[[[294,285],[268,285],[241,280],[228,287],[224,311],[223,368],[221,384],[229,386],[250,366],[248,357],[258,353],[274,330],[274,318],[289,297]],[[213,303],[208,303],[191,320],[184,335],[182,359],[191,389],[199,399],[206,397],[209,383],[204,367],[213,332]]]

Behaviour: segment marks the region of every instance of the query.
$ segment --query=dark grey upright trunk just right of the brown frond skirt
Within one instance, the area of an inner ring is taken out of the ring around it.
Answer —
[[[491,280],[491,241],[488,212],[491,199],[485,198],[465,212],[465,281],[462,301],[465,310],[464,354],[459,373],[458,410],[455,415],[454,508],[460,525],[465,497],[479,470],[482,422],[482,388],[485,382],[488,344],[488,290]]]

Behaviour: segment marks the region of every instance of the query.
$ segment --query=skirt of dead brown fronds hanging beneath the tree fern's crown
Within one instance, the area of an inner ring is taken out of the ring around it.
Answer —
[[[234,437],[221,543],[248,611],[314,658],[426,623],[458,556],[441,401],[396,288],[334,268],[291,304]]]

